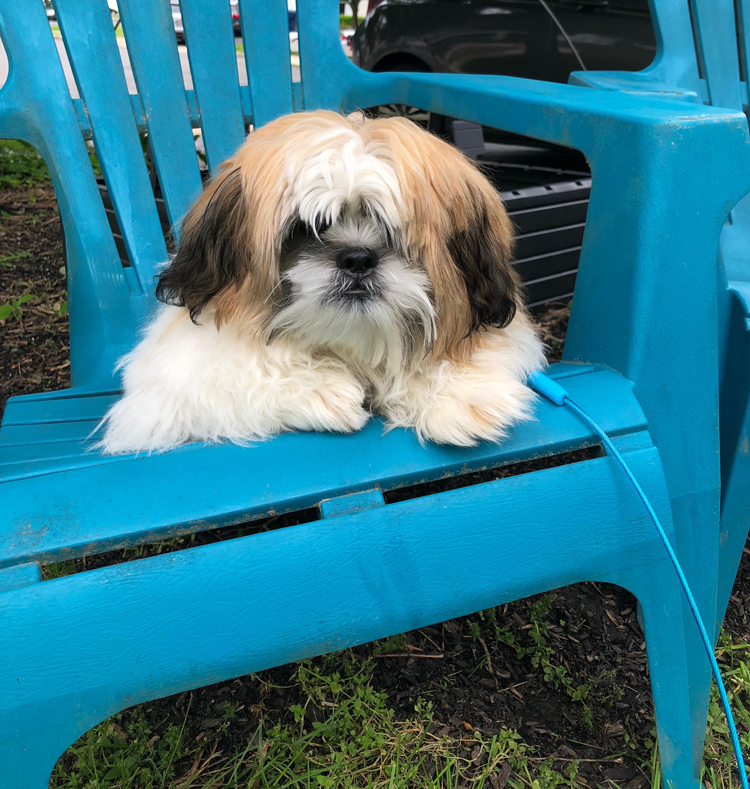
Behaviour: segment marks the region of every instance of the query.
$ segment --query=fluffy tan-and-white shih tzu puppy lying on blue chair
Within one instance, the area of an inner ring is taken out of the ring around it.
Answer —
[[[350,432],[372,412],[422,440],[500,439],[545,364],[512,240],[475,165],[410,121],[269,123],[185,217],[102,449]]]

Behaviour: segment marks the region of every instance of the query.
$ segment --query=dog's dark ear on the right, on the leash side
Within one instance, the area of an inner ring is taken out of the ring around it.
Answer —
[[[513,234],[505,209],[471,189],[466,226],[448,241],[453,262],[463,276],[471,307],[471,329],[507,326],[516,314],[518,283],[510,261]]]

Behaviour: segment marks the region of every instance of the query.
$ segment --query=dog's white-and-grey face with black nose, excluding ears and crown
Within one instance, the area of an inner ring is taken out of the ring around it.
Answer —
[[[349,200],[332,221],[301,218],[284,235],[270,337],[343,349],[370,366],[428,348],[433,289],[410,259],[399,227]]]

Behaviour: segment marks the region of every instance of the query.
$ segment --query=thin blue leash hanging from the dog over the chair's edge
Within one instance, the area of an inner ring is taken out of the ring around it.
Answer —
[[[641,501],[643,502],[643,506],[648,510],[648,514],[651,516],[651,520],[654,522],[654,526],[656,526],[656,531],[659,533],[659,537],[664,545],[667,554],[674,566],[675,572],[677,573],[677,577],[680,579],[680,584],[682,585],[682,590],[685,592],[685,597],[687,598],[688,605],[690,606],[690,610],[693,612],[693,618],[695,619],[695,624],[698,625],[698,631],[701,635],[701,640],[703,641],[703,646],[706,649],[706,655],[708,655],[709,663],[711,664],[711,671],[713,672],[714,679],[716,680],[716,687],[719,690],[719,698],[721,699],[721,706],[724,708],[724,715],[727,719],[727,724],[729,726],[729,737],[732,740],[732,748],[734,750],[735,758],[737,759],[737,767],[740,774],[740,783],[742,785],[742,789],[748,789],[747,783],[747,773],[745,772],[745,762],[742,758],[742,750],[740,748],[740,739],[737,736],[737,727],[734,725],[734,718],[732,717],[732,710],[729,707],[729,699],[727,698],[727,691],[724,688],[724,683],[721,680],[721,673],[719,672],[719,664],[716,662],[716,658],[714,657],[714,649],[713,645],[711,644],[711,640],[708,637],[708,633],[706,632],[706,627],[703,624],[703,620],[701,619],[700,612],[698,611],[698,606],[695,602],[695,598],[693,597],[693,593],[690,591],[690,587],[688,586],[687,578],[685,578],[685,573],[682,572],[682,567],[680,567],[680,563],[677,560],[677,556],[675,555],[674,550],[667,538],[667,535],[662,527],[661,523],[659,522],[659,518],[657,517],[656,513],[654,512],[654,508],[651,506],[651,502],[646,497],[646,494],[643,492],[643,488],[638,484],[638,480],[633,476],[633,472],[628,468],[627,463],[623,459],[622,455],[617,451],[617,448],[610,440],[609,436],[599,427],[599,425],[577,404],[574,403],[570,399],[570,395],[563,389],[557,381],[553,381],[551,378],[546,376],[542,372],[533,372],[528,379],[529,386],[532,389],[535,389],[539,394],[544,395],[548,400],[553,402],[555,405],[559,406],[567,406],[570,408],[571,411],[574,411],[578,414],[581,419],[601,438],[602,443],[605,447],[609,450],[610,454],[614,459],[620,464],[622,470],[625,472],[625,475],[630,480],[631,484],[635,488],[635,492],[640,497]]]

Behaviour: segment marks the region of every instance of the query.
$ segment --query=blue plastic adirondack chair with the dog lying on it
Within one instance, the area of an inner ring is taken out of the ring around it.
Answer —
[[[120,0],[129,96],[106,3],[57,0],[81,100],[70,99],[38,0],[0,0],[10,76],[0,136],[52,173],[65,229],[70,390],[13,398],[0,430],[0,786],[47,785],[80,734],[147,699],[362,643],[582,580],[639,599],[665,785],[696,787],[708,675],[671,566],[615,462],[386,504],[383,491],[596,444],[567,409],[501,446],[421,447],[377,421],[352,436],[191,445],[102,458],[86,436],[112,368],[153,306],[166,250],[143,160],[170,219],[212,169],[292,110],[405,103],[582,150],[593,190],[566,344],[575,399],[615,436],[676,540],[704,609],[719,563],[716,250],[750,189],[744,116],[620,92],[498,77],[368,74],[342,53],[333,0],[301,0],[302,82],[286,4],[240,0],[249,87],[224,0],[182,0],[194,91],[169,4]],[[132,266],[123,268],[84,141],[92,134]],[[318,506],[321,519],[40,580],[40,564]],[[699,732],[699,733],[696,733]]]

